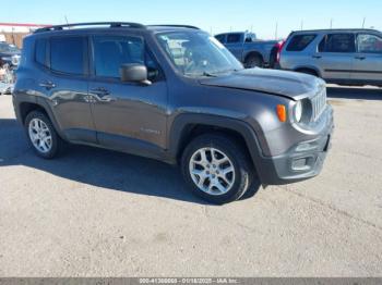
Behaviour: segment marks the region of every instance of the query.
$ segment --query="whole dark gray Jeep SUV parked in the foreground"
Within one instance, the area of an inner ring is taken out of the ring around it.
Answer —
[[[333,114],[320,78],[244,70],[195,27],[82,25],[24,39],[13,104],[38,156],[69,141],[178,164],[215,203],[321,171]]]

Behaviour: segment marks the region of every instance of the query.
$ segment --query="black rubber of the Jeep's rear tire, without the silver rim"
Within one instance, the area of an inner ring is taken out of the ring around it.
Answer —
[[[49,151],[47,151],[47,152],[41,152],[40,150],[38,150],[34,146],[32,138],[29,136],[29,124],[31,124],[31,121],[34,119],[38,119],[38,120],[43,121],[50,132],[51,147],[50,147]],[[52,123],[50,122],[49,117],[45,113],[43,113],[40,111],[32,111],[31,113],[28,113],[26,119],[25,119],[24,128],[25,128],[28,144],[38,157],[44,158],[44,159],[52,159],[52,158],[57,157],[63,150],[64,141],[57,134]]]

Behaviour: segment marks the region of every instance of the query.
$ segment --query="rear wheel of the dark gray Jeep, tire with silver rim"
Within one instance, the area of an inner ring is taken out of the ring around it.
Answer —
[[[43,112],[32,111],[28,113],[24,127],[28,142],[38,157],[52,159],[63,149],[63,140],[57,134],[48,116]],[[35,139],[32,137],[32,133]],[[40,144],[41,140],[44,140],[44,144]]]

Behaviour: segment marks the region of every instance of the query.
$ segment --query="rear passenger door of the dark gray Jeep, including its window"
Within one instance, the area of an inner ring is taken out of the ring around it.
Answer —
[[[35,60],[41,67],[39,91],[49,98],[60,128],[69,139],[96,142],[87,96],[88,40],[85,36],[37,39]]]

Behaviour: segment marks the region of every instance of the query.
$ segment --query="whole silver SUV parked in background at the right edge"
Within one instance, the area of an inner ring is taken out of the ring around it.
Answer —
[[[382,86],[382,33],[374,29],[294,32],[285,42],[280,69],[329,83]]]

